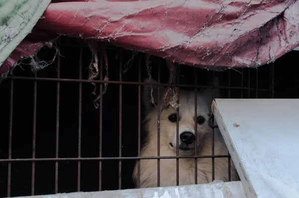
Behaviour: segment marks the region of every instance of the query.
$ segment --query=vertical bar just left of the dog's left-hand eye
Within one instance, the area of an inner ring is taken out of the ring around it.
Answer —
[[[161,61],[158,63],[158,83],[161,82]],[[160,86],[158,85],[158,99],[157,99],[157,156],[160,156]],[[157,159],[157,187],[160,187],[160,159]]]

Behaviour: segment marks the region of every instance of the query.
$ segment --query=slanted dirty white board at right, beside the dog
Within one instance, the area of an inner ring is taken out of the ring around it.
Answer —
[[[299,99],[215,99],[248,198],[299,198]]]

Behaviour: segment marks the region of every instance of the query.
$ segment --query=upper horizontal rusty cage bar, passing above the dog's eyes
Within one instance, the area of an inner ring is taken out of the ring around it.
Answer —
[[[35,77],[21,77],[21,76],[8,76],[6,79],[14,79],[14,80],[38,80],[38,81],[55,81],[55,82],[83,82],[83,83],[107,83],[107,84],[128,84],[128,85],[154,85],[154,86],[173,86],[172,84],[167,83],[149,83],[149,82],[130,82],[130,81],[113,81],[113,80],[86,80],[86,79],[68,79],[68,78],[35,78]],[[197,87],[197,88],[212,88],[212,86],[203,86],[203,85],[187,85],[187,84],[179,84],[177,87]],[[243,89],[248,91],[255,91],[255,88],[249,87],[227,87],[227,86],[214,86],[214,88],[221,89]],[[269,89],[258,89],[259,91],[269,91]]]

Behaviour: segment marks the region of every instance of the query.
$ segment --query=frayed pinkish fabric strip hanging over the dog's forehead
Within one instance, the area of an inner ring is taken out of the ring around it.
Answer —
[[[176,84],[177,80],[177,67],[171,61],[167,61],[167,67],[169,70],[169,80],[168,84]],[[166,94],[164,95],[164,109],[169,108],[169,106],[177,109],[180,104],[177,103],[178,101],[178,93],[177,88],[175,86],[168,87]]]

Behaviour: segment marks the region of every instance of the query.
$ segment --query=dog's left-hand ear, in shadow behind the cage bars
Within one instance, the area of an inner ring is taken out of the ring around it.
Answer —
[[[144,82],[148,83],[157,83],[157,81],[153,79],[146,78]],[[165,95],[166,88],[163,86],[160,86],[160,100]],[[143,103],[147,108],[157,106],[158,101],[158,86],[157,85],[144,85],[143,87]],[[162,104],[161,104],[162,105]]]

